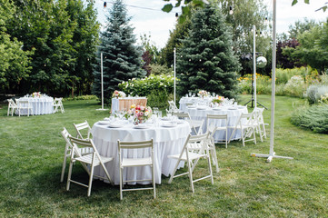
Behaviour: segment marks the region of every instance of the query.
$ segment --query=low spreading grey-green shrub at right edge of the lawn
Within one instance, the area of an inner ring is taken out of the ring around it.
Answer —
[[[291,122],[318,134],[328,134],[328,104],[299,109],[293,114]]]

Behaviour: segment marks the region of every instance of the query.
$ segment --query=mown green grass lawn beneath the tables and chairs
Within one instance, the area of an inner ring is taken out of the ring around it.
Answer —
[[[270,95],[258,101],[271,108]],[[241,96],[240,104],[250,95]],[[65,126],[75,133],[73,123],[89,124],[108,116],[96,111],[93,100],[65,102],[65,114],[30,117],[6,116],[0,110],[0,217],[327,217],[328,216],[328,135],[293,126],[290,117],[302,99],[277,96],[275,106],[274,150],[293,160],[250,157],[269,153],[269,138],[263,143],[217,144],[220,173],[195,183],[189,189],[188,177],[168,184],[163,176],[151,191],[124,193],[118,186],[95,180],[90,197],[86,189],[71,184],[65,190],[60,173],[65,149],[60,131]],[[267,123],[270,111],[264,112]],[[269,127],[267,128],[269,132]],[[201,162],[195,174],[203,173]],[[65,174],[66,176],[66,174]],[[87,174],[75,167],[74,176],[84,181]],[[65,177],[66,178],[66,177]]]

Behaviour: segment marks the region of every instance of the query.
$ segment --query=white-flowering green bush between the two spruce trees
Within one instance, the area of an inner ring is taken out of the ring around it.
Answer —
[[[132,79],[118,84],[125,94],[146,96],[149,106],[167,107],[174,92],[174,77],[171,75],[150,75],[143,79]]]

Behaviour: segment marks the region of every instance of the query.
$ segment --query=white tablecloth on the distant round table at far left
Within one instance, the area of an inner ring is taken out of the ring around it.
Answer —
[[[21,97],[17,99],[19,100],[25,100],[29,101],[32,105],[32,112],[34,115],[40,115],[40,114],[53,114],[54,113],[54,98],[53,97]],[[15,111],[15,114],[18,114],[17,111]],[[21,115],[27,115],[27,109],[21,110]]]

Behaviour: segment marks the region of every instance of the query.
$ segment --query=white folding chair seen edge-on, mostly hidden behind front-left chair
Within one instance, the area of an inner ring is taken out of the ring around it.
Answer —
[[[62,167],[62,174],[60,176],[60,182],[64,181],[64,174],[65,174],[65,168],[66,168],[66,162],[67,162],[67,157],[70,157],[72,154],[72,149],[73,149],[73,145],[71,144],[71,142],[69,141],[69,136],[72,136],[71,134],[68,133],[68,131],[66,130],[66,128],[64,127],[64,130],[61,132],[63,138],[65,139],[65,154],[64,154],[64,161],[63,161],[63,167]],[[79,154],[80,156],[83,154],[91,154],[93,153],[93,148],[90,147],[81,147],[78,148],[78,150],[76,151],[77,154]],[[82,164],[84,166],[84,169],[86,171],[88,171],[88,169],[86,168],[86,165],[83,163]]]

